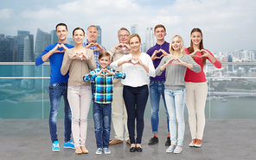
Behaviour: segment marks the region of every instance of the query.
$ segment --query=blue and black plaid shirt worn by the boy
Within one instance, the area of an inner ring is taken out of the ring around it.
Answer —
[[[90,71],[90,73],[86,74],[83,79],[84,81],[90,81],[91,79],[94,79],[95,90],[93,93],[93,102],[104,104],[111,103],[113,93],[113,80],[114,78],[125,79],[125,73],[108,68],[109,71],[115,72],[116,75],[96,76],[96,73],[98,73],[100,70],[100,68],[97,68],[93,71]]]

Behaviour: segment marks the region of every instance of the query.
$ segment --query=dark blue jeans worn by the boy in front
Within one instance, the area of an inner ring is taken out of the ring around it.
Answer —
[[[93,120],[97,148],[108,148],[111,130],[112,103],[93,102]]]

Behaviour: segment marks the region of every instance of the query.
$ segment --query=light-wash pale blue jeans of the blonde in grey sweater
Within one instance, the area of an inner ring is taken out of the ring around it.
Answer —
[[[185,132],[184,107],[186,102],[186,89],[164,89],[165,101],[170,118],[171,145],[181,145]],[[178,139],[176,140],[176,120],[178,124]]]

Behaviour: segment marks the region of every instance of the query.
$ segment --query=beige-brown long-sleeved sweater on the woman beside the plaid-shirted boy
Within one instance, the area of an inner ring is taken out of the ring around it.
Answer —
[[[86,48],[85,48],[86,49]],[[70,56],[74,54],[74,48],[66,50],[61,66],[61,74],[66,75],[67,71],[69,78],[67,85],[69,86],[91,86],[90,81],[84,82],[83,77],[90,71],[96,68],[96,63],[93,55],[93,51],[86,49],[86,56],[88,60],[71,59]]]

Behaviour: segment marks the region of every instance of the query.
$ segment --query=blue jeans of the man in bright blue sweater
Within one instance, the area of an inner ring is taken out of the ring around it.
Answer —
[[[67,83],[50,83],[49,84],[49,99],[50,99],[50,115],[49,115],[49,130],[52,142],[58,140],[57,138],[57,115],[60,108],[61,96],[64,99],[64,136],[65,142],[70,140],[71,137],[71,110],[67,102]]]

